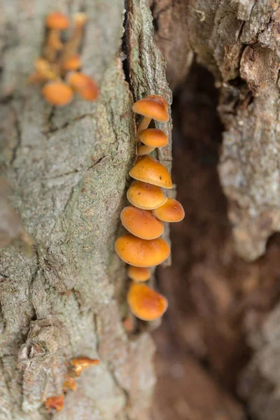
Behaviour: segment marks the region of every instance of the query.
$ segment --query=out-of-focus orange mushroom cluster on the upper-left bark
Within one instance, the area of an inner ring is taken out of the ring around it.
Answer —
[[[87,101],[98,97],[95,81],[80,71],[80,44],[87,15],[73,16],[73,33],[66,43],[62,43],[62,32],[69,28],[68,18],[59,12],[52,12],[45,18],[46,36],[42,57],[35,61],[35,71],[29,83],[43,84],[41,94],[51,105],[64,106],[73,99],[74,92]]]

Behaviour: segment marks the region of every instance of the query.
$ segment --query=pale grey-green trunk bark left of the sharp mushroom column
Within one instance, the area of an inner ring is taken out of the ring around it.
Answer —
[[[59,2],[64,13],[88,15],[83,69],[101,88],[96,103],[76,98],[62,109],[26,84],[57,1],[5,6],[3,169],[34,255],[1,252],[0,419],[149,419],[154,345],[147,332],[129,337],[123,328],[125,265],[113,248],[136,151],[132,93],[171,102],[148,2],[128,4],[133,54],[148,60],[130,64],[132,92],[119,57],[123,1]],[[161,158],[170,162],[170,149]],[[83,372],[62,412],[48,414],[43,401],[62,393],[66,363],[77,356],[101,364]]]

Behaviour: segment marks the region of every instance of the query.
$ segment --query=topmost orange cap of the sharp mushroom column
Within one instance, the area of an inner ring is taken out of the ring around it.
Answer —
[[[132,110],[141,116],[152,118],[162,123],[169,121],[167,102],[157,94],[152,94],[135,102]]]

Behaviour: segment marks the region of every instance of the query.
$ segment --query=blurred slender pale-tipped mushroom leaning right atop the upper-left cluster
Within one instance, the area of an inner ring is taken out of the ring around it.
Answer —
[[[87,15],[85,15],[85,13],[76,13],[73,18],[75,22],[73,35],[64,46],[62,57],[59,59],[59,68],[64,65],[67,59],[77,54],[83,38],[83,30],[85,23],[87,22]]]

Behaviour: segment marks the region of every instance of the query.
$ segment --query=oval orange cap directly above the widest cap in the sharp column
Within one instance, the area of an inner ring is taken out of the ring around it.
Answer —
[[[165,224],[153,216],[151,210],[134,206],[125,207],[120,213],[120,220],[128,232],[141,239],[156,239],[165,230]]]

